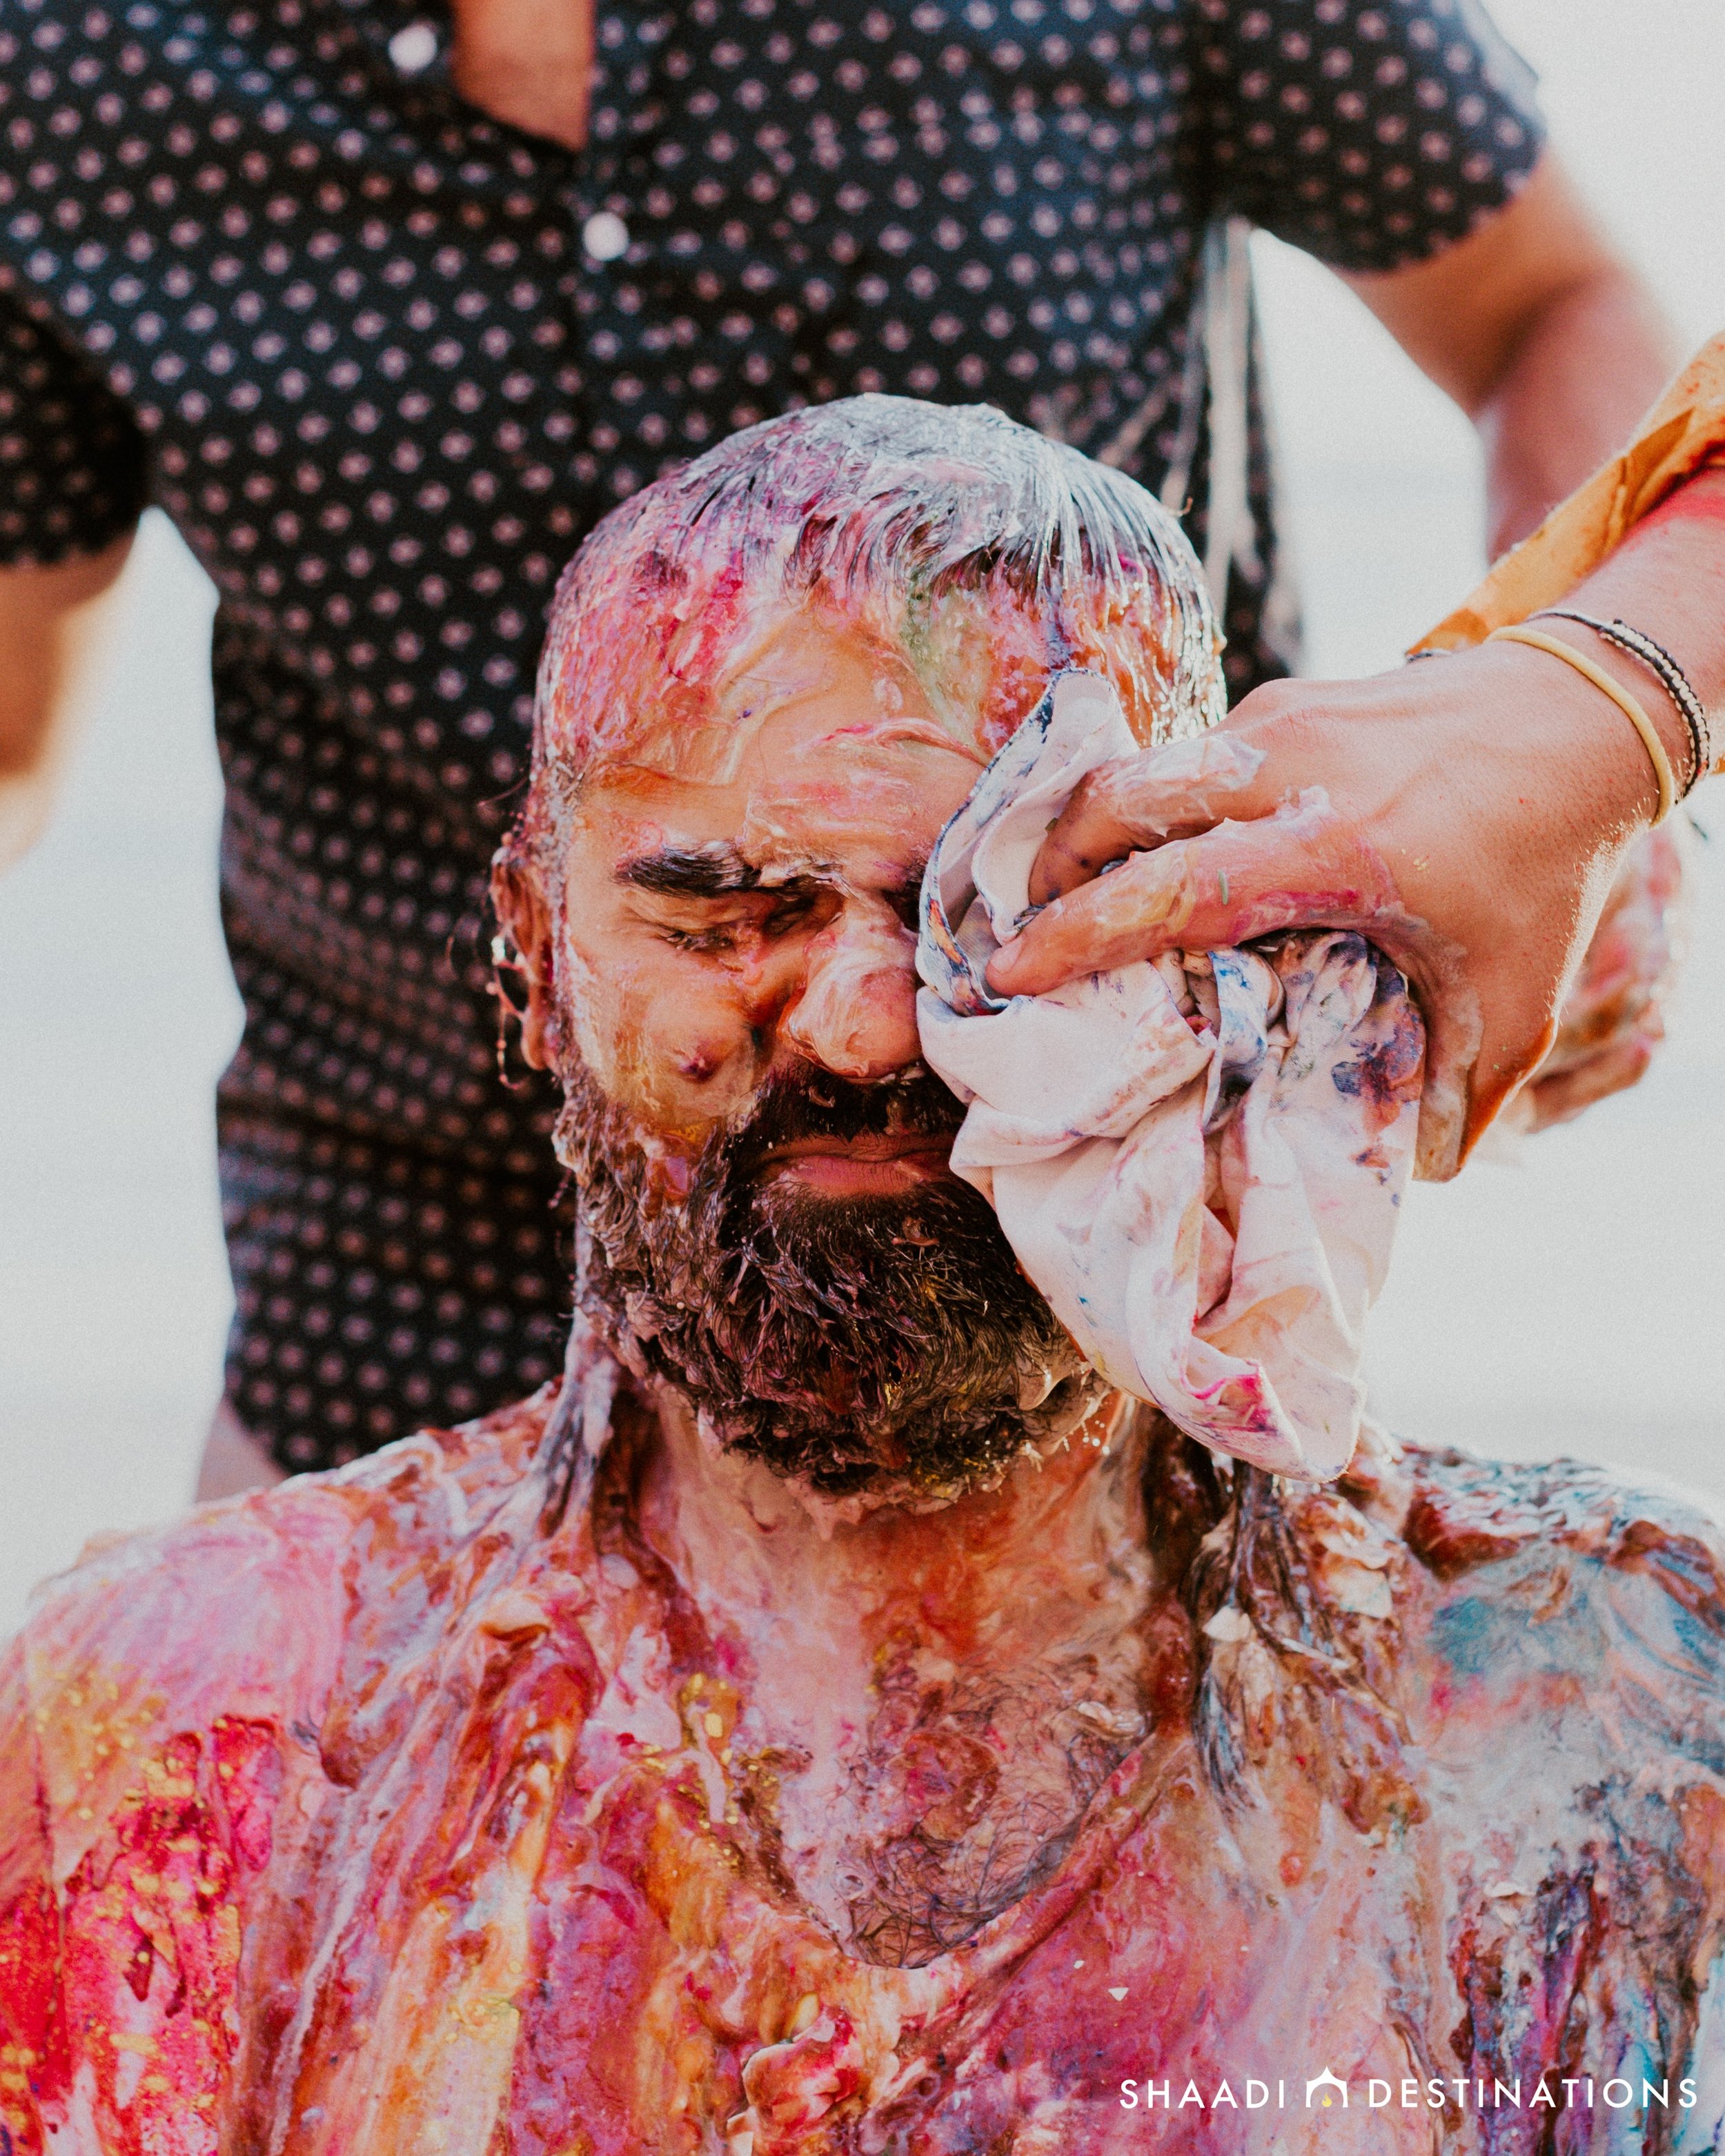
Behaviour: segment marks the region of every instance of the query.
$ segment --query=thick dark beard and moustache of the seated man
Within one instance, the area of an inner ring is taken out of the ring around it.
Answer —
[[[934,1078],[858,1087],[804,1067],[716,1130],[679,1192],[591,1072],[565,1072],[556,1151],[580,1190],[582,1311],[727,1451],[822,1496],[940,1501],[998,1481],[1098,1380],[981,1192],[940,1177],[819,1199],[757,1173],[794,1136],[949,1132],[960,1112]]]

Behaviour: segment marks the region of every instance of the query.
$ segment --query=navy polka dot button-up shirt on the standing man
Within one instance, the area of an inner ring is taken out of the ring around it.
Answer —
[[[599,0],[580,155],[466,106],[448,28],[0,0],[0,561],[155,500],[220,591],[229,1388],[287,1466],[558,1365],[483,886],[582,533],[735,427],[893,390],[1190,498],[1203,548],[1205,233],[1393,270],[1540,147],[1473,0]],[[1287,655],[1244,412],[1236,690]]]

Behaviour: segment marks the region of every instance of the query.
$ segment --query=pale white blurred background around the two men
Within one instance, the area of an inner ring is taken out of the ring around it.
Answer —
[[[1725,9],[1499,0],[1496,17],[1686,341],[1725,326]],[[1477,453],[1339,285],[1259,246],[1311,671],[1367,673],[1479,573]],[[185,1501],[218,1391],[211,1084],[239,1011],[209,604],[151,517],[56,824],[0,884],[0,1630],[86,1535]],[[1624,1460],[1725,1496],[1719,796],[1699,796],[1719,843],[1654,1074],[1520,1164],[1410,1199],[1371,1341],[1378,1406],[1410,1436]]]

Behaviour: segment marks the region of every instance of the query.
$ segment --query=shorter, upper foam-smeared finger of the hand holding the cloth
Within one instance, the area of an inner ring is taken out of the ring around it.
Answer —
[[[1253,815],[1259,802],[1251,787],[1261,763],[1261,748],[1229,733],[1208,733],[1098,765],[1048,826],[1031,867],[1031,903],[1065,897],[1110,860],[1160,845],[1175,832]]]

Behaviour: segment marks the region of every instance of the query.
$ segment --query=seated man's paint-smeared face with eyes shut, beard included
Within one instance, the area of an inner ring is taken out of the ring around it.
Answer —
[[[964,1485],[1072,1388],[919,1063],[916,890],[985,761],[951,727],[901,655],[785,612],[705,724],[645,688],[567,854],[582,1298],[727,1442],[828,1490]]]

